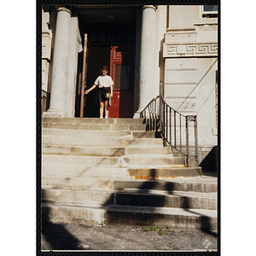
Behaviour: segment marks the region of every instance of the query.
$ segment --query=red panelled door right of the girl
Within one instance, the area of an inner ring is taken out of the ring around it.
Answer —
[[[110,76],[113,79],[111,118],[133,117],[134,46],[121,45],[111,48]]]

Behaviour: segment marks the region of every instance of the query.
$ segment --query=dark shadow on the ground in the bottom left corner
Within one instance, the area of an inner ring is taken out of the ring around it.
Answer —
[[[42,189],[44,198],[44,189]],[[75,238],[62,224],[55,224],[49,220],[49,207],[44,201],[42,209],[41,234],[49,242],[52,250],[81,250],[79,240]]]

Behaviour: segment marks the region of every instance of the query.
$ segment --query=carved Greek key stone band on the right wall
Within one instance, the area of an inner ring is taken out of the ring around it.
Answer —
[[[178,48],[182,47],[182,51]],[[198,44],[164,44],[163,57],[202,57],[217,56],[217,43],[198,43]]]

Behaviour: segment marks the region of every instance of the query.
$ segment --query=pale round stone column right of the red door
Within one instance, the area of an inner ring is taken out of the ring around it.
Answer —
[[[135,117],[154,98],[155,10],[154,5],[144,5],[142,9],[140,83]]]

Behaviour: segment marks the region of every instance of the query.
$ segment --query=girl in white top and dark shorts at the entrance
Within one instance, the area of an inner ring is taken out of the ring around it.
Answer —
[[[89,90],[85,90],[84,94],[88,94],[91,90],[94,90],[96,86],[99,87],[97,95],[100,102],[100,118],[103,118],[105,108],[105,119],[108,119],[108,102],[111,101],[111,97],[113,96],[113,80],[108,76],[108,66],[103,66],[101,73],[102,75],[97,77],[94,84]],[[106,97],[108,93],[110,93],[110,98]]]

